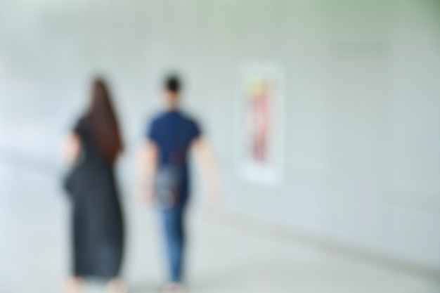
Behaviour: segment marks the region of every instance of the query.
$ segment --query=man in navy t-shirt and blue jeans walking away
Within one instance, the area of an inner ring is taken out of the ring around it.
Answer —
[[[170,76],[164,82],[165,110],[148,127],[138,155],[138,195],[160,207],[169,259],[166,292],[183,292],[186,244],[185,213],[190,197],[188,153],[202,168],[209,193],[219,200],[220,183],[212,148],[194,119],[179,110],[181,82]]]

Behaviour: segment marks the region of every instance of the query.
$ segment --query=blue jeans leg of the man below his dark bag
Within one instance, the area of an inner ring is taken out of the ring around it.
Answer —
[[[185,210],[185,202],[180,202],[171,209],[162,210],[162,222],[169,262],[169,282],[182,282],[183,280],[183,254],[186,240],[184,227]]]

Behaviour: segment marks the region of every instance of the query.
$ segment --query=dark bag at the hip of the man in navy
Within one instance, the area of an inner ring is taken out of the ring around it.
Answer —
[[[161,209],[172,209],[179,203],[184,182],[183,167],[163,165],[157,169],[155,194]]]

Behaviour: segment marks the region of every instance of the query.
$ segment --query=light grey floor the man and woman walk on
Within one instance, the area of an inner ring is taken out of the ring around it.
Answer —
[[[130,292],[159,292],[164,266],[157,215],[129,198],[124,209],[129,227],[124,276]],[[59,292],[68,268],[68,211],[58,178],[0,163],[1,293]],[[435,280],[221,219],[215,209],[191,210],[189,292],[440,292]],[[86,290],[101,292],[102,287],[91,284]]]

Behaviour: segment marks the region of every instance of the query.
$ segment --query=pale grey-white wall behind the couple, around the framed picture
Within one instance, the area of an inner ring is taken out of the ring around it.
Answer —
[[[131,154],[162,74],[219,152],[224,209],[440,269],[440,5],[436,1],[0,2],[0,151],[56,162],[60,137],[109,77]],[[282,65],[287,175],[235,175],[240,66]]]

